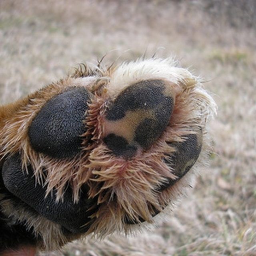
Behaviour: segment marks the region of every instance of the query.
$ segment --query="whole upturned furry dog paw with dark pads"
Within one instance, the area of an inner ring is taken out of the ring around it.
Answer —
[[[2,108],[0,227],[52,250],[152,223],[207,148],[215,106],[195,79],[170,60],[81,67]],[[13,247],[9,238],[0,250]]]

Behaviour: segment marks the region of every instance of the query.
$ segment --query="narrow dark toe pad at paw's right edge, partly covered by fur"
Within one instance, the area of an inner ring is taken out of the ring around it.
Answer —
[[[183,142],[169,143],[175,147],[176,151],[166,157],[164,162],[173,169],[173,174],[178,178],[176,180],[168,180],[162,184],[159,191],[162,191],[180,180],[195,164],[202,149],[202,131],[197,134],[189,134]]]

